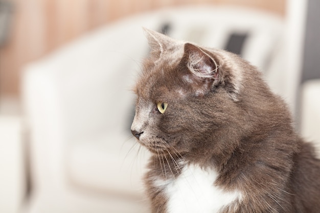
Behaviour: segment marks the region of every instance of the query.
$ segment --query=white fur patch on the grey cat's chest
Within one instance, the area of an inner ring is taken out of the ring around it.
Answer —
[[[225,192],[214,185],[217,173],[187,165],[176,179],[155,181],[168,197],[168,213],[216,213],[241,199],[240,192]]]

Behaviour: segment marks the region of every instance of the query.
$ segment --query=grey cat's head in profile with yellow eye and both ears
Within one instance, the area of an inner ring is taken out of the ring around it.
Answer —
[[[134,88],[132,134],[153,153],[221,147],[209,141],[237,134],[242,70],[249,65],[226,51],[145,33],[151,53]]]

